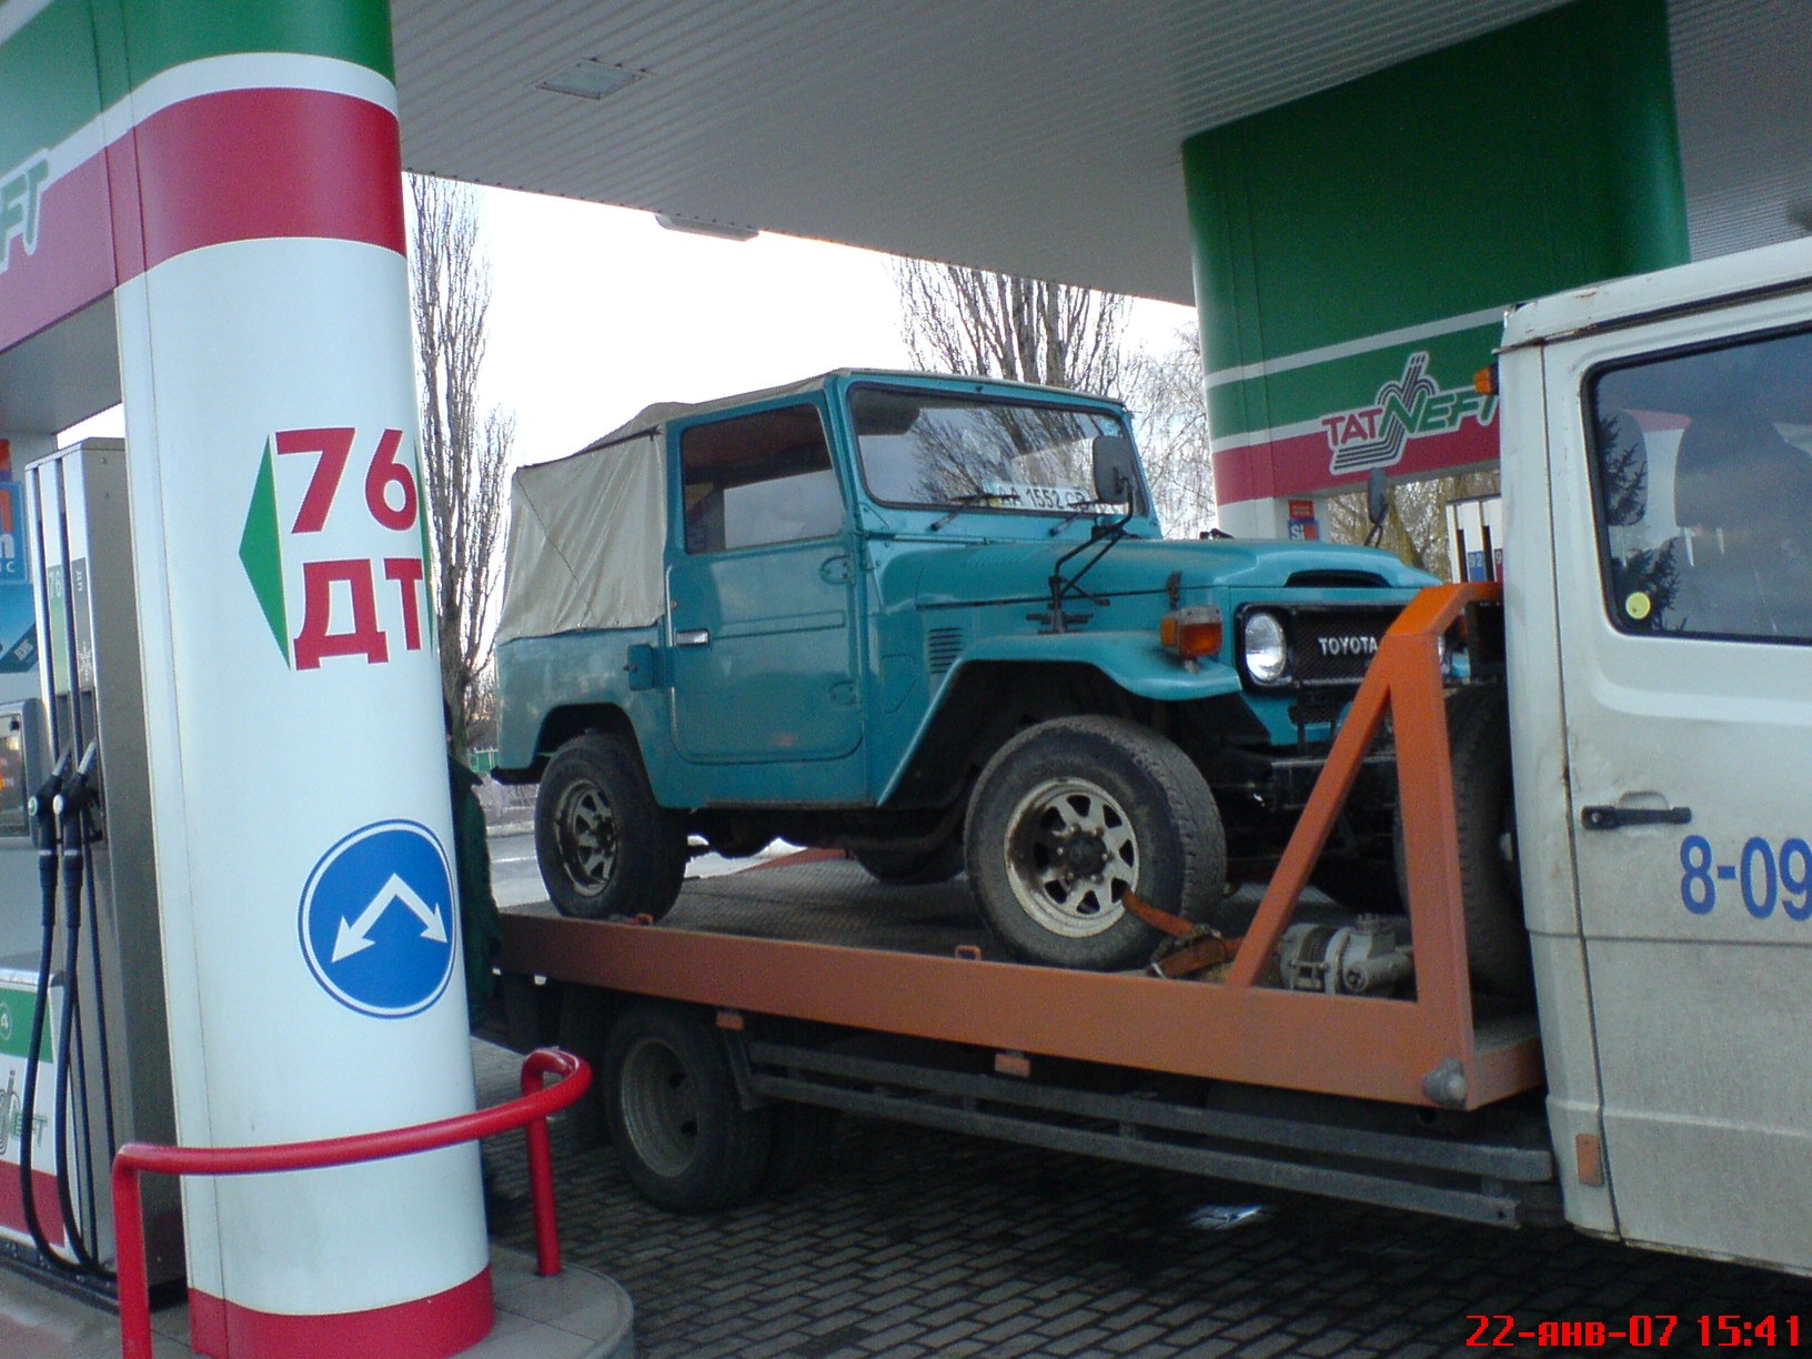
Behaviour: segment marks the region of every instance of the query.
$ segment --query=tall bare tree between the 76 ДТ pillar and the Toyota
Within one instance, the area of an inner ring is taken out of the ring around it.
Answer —
[[[516,420],[478,402],[489,261],[462,185],[410,176],[411,310],[422,399],[422,475],[435,553],[440,692],[464,748],[482,707],[504,525],[504,471]]]

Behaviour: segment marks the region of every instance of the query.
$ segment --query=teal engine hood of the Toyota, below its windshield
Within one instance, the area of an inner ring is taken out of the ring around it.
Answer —
[[[1056,569],[1058,558],[1073,547],[1076,547],[1075,540],[939,544],[917,551],[908,549],[890,562],[890,589],[886,593],[893,598],[910,596],[920,607],[1042,600],[1049,594],[1051,573]],[[1075,576],[1096,551],[1100,547],[1085,547],[1069,558],[1064,574]],[[1261,538],[1205,542],[1125,538],[1089,569],[1082,585],[1093,594],[1160,593],[1174,573],[1181,574],[1183,589],[1209,585],[1281,589],[1290,583],[1292,576],[1305,573],[1350,573],[1355,576],[1352,582],[1341,582],[1337,576],[1301,582],[1317,587],[1352,583],[1419,589],[1435,583],[1433,576],[1372,547]]]

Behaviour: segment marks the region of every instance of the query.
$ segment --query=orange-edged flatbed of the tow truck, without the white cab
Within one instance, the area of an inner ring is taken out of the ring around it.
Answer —
[[[1393,658],[1426,656],[1419,698],[1441,723],[1437,636],[1491,594],[1437,589],[1412,605],[1359,703],[1410,701],[1390,681]],[[1404,631],[1424,614],[1433,622]],[[1346,727],[1354,757],[1368,745],[1361,727]],[[1397,741],[1408,757],[1401,719]],[[788,1140],[774,1111],[815,1105],[1473,1221],[1551,1218],[1540,1105],[1513,1098],[1542,1082],[1535,1018],[1473,1013],[1464,931],[1441,906],[1457,893],[1424,893],[1419,908],[1412,884],[1413,1002],[1283,989],[1239,971],[1294,915],[1319,852],[1306,839],[1317,815],[1332,824],[1337,812],[1339,768],[1335,754],[1301,850],[1218,980],[1007,960],[960,879],[886,886],[835,852],[692,879],[660,924],[509,911],[502,968],[540,982],[515,989],[518,1022],[538,1011],[540,1036],[602,1062],[612,1132],[645,1143],[652,1165],[640,1169],[667,1207],[721,1207],[772,1181],[776,1143]],[[1459,881],[1453,841],[1435,830],[1442,794],[1451,824],[1451,781],[1426,788],[1428,815],[1406,824],[1412,844],[1435,832],[1417,882]],[[1292,873],[1303,877],[1294,888]],[[625,1011],[667,1026],[631,1044],[627,1062],[612,1042]],[[678,1036],[687,1027],[721,1069],[692,1060]],[[707,1111],[718,1127],[701,1125]],[[770,1143],[766,1160],[745,1142]]]

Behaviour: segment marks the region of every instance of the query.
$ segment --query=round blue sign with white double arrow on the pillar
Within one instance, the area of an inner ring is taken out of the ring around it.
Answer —
[[[355,830],[308,875],[308,969],[342,1006],[377,1018],[428,1009],[453,977],[458,917],[446,850],[413,821]]]

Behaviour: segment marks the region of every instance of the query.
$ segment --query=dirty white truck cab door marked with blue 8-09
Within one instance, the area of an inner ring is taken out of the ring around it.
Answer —
[[[1546,350],[1555,567],[1531,578],[1555,600],[1567,828],[1524,828],[1522,853],[1531,882],[1571,850],[1589,1017],[1544,995],[1544,1040],[1575,1073],[1596,1046],[1616,1230],[1805,1270],[1812,333],[1790,310]],[[1518,812],[1540,799],[1518,785]]]

